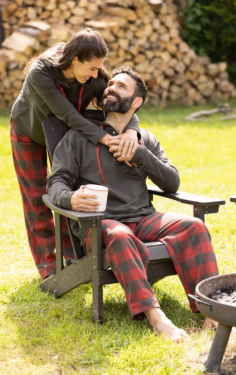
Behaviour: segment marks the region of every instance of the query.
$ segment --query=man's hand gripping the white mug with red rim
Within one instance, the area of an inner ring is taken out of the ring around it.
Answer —
[[[99,209],[100,202],[90,201],[87,198],[97,199],[97,195],[85,194],[84,189],[73,192],[70,197],[70,207],[74,211],[94,212]]]

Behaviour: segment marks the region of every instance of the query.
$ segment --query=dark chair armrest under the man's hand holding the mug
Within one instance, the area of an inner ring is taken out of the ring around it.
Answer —
[[[74,219],[76,221],[87,221],[87,220],[99,220],[104,219],[104,214],[100,212],[81,212],[81,211],[73,211],[67,210],[66,208],[61,208],[55,204],[53,204],[48,194],[44,194],[42,196],[43,202],[51,208],[52,211],[55,211],[63,216],[70,217],[70,219]]]

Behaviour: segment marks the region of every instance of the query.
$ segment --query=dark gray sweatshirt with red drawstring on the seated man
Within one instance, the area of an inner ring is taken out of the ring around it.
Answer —
[[[117,131],[109,124],[91,120],[109,134]],[[179,174],[166,157],[157,138],[148,130],[140,129],[141,140],[132,162],[138,167],[130,167],[109,152],[106,145],[94,145],[80,132],[71,129],[61,139],[54,151],[51,175],[47,192],[51,201],[71,209],[70,197],[84,184],[99,184],[109,188],[105,219],[119,222],[140,222],[145,216],[155,212],[146,187],[149,177],[160,189],[176,192]],[[71,220],[72,231],[79,238],[85,229]]]

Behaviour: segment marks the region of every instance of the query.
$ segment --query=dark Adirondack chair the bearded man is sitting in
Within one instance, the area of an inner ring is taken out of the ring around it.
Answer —
[[[103,111],[85,110],[84,117],[92,117],[104,121]],[[53,153],[60,139],[70,128],[53,116],[43,121],[46,145],[49,156],[53,160]],[[224,200],[209,198],[184,192],[166,193],[157,186],[148,185],[149,197],[153,194],[164,196],[176,201],[193,205],[193,214],[204,222],[204,215],[218,212],[219,205]],[[54,205],[48,195],[43,195],[43,201],[55,213],[55,246],[56,246],[56,274],[41,282],[42,291],[49,291],[60,297],[81,284],[93,283],[93,321],[103,323],[103,285],[117,283],[117,278],[106,260],[105,249],[102,248],[102,212],[78,212],[60,208]],[[72,240],[75,259],[65,260],[63,264],[63,232],[62,216],[66,217],[67,226]],[[92,252],[85,255],[80,240],[70,230],[69,218],[78,220],[80,228],[92,228]],[[150,282],[158,281],[166,276],[176,275],[169,251],[162,242],[148,242],[145,244],[149,251],[147,276]]]

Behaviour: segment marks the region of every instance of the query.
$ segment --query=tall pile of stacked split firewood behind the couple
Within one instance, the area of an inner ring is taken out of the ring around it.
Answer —
[[[130,65],[146,81],[149,102],[204,104],[236,96],[225,62],[198,57],[180,36],[173,0],[1,0],[0,105],[13,102],[30,56],[84,24],[111,49],[108,68]]]

